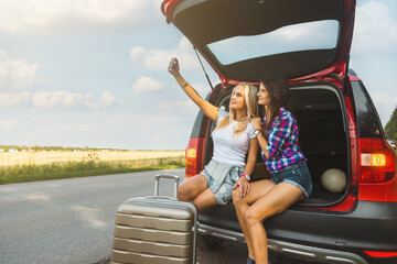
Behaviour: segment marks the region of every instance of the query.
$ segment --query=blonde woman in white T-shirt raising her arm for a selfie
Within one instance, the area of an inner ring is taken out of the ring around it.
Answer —
[[[186,82],[180,74],[176,58],[171,59],[168,70],[193,102],[217,124],[212,133],[212,160],[200,174],[180,185],[178,198],[193,202],[198,211],[203,211],[232,201],[233,188],[239,188],[242,195],[247,195],[249,175],[259,151],[250,123],[251,118],[258,117],[258,88],[248,84],[237,85],[232,92],[229,112],[226,112],[224,107],[217,108],[200,97]]]

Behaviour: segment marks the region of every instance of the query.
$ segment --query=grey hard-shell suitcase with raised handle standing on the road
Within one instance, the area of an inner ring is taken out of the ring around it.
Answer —
[[[174,197],[159,196],[160,178],[174,180]],[[154,176],[154,196],[126,200],[117,210],[111,263],[194,264],[197,210],[178,200],[179,177]]]

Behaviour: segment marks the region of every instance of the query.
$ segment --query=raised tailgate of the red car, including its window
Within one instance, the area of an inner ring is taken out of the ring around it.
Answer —
[[[342,75],[355,0],[163,0],[161,10],[227,85]]]

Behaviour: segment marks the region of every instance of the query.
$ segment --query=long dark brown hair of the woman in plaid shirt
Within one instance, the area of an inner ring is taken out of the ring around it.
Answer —
[[[268,107],[270,118],[269,120],[266,120],[266,125],[264,127],[264,132],[266,133],[266,131],[270,129],[275,118],[280,113],[280,108],[290,110],[290,90],[286,79],[282,77],[261,79],[260,82],[265,86],[270,97],[270,106]],[[266,114],[266,112],[264,114]]]

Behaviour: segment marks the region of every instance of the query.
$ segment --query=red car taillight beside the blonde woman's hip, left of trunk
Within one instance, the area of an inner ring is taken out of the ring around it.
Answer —
[[[190,139],[185,152],[186,178],[192,177],[202,170],[203,168],[202,147],[203,147],[202,138]]]

